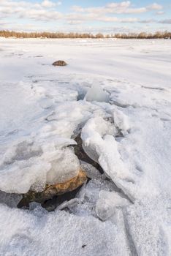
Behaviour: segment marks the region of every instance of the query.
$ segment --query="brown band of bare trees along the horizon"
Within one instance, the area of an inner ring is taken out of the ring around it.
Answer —
[[[116,34],[91,34],[91,33],[50,33],[50,32],[16,32],[2,30],[0,37],[15,37],[15,38],[123,38],[123,39],[171,39],[171,32],[156,31],[155,33],[116,33]]]

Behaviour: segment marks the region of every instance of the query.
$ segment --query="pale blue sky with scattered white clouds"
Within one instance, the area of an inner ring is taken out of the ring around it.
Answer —
[[[0,30],[171,31],[171,1],[0,0]]]

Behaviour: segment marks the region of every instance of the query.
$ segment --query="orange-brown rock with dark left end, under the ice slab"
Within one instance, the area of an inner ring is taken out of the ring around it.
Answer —
[[[75,178],[70,179],[69,181],[58,184],[47,184],[45,190],[42,192],[35,192],[33,190],[29,190],[26,194],[23,195],[23,199],[18,204],[18,208],[28,206],[31,202],[44,203],[45,200],[49,200],[56,195],[62,195],[67,192],[72,192],[86,181],[86,173],[80,169],[78,175]]]

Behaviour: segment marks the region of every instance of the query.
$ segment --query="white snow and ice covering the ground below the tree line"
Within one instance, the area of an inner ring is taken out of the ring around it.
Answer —
[[[0,255],[171,255],[171,41],[1,38],[0,57]],[[82,162],[67,211],[16,208],[54,161],[77,174],[78,130],[105,175]]]

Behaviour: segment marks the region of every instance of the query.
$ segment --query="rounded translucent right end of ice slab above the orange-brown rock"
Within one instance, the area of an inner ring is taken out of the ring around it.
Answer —
[[[64,148],[56,152],[56,159],[51,162],[52,167],[47,172],[47,184],[56,184],[77,176],[80,162],[71,148]]]

